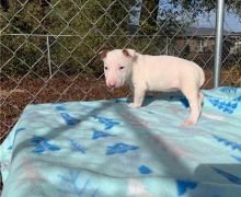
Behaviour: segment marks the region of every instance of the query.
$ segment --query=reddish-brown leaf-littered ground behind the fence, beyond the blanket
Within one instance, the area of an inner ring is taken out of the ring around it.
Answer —
[[[223,72],[225,73],[225,72]],[[222,80],[233,80],[228,71],[221,76]],[[213,71],[206,71],[204,89],[213,86]],[[234,79],[238,80],[238,79]],[[0,142],[14,126],[27,104],[91,101],[114,97],[125,97],[129,94],[127,86],[110,90],[103,78],[95,79],[91,76],[57,74],[53,78],[14,78],[0,80]]]

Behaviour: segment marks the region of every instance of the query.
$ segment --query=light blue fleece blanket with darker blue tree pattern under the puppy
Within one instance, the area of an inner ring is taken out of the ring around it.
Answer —
[[[2,197],[240,197],[241,89],[28,105],[0,147]]]

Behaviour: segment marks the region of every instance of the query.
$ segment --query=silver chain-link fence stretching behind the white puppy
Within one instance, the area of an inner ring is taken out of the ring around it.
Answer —
[[[213,86],[215,24],[198,21],[216,1],[1,0],[1,140],[27,104],[127,96],[128,88],[105,85],[97,58],[105,48],[193,60],[206,72],[204,88]],[[227,12],[240,18],[240,1],[229,1]],[[226,28],[221,85],[240,86],[240,57],[241,31]]]

